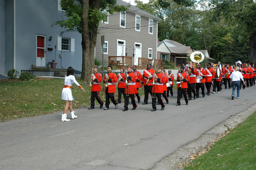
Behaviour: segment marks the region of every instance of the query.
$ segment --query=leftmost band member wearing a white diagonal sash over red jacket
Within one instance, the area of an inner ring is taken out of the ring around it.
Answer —
[[[147,65],[147,69],[143,71],[141,85],[144,85],[144,102],[142,104],[148,104],[148,93],[152,96],[152,76],[154,74],[154,69],[151,68],[151,64]],[[147,83],[148,81],[148,83]]]

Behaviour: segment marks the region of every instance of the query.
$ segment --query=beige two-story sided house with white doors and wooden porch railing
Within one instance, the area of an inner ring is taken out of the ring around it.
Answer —
[[[129,5],[121,0],[117,0],[117,4]],[[104,64],[142,65],[141,58],[148,59],[147,62],[156,59],[159,20],[133,5],[126,12],[108,15],[107,21],[102,21],[99,25],[95,58],[102,60],[101,36],[104,35]]]

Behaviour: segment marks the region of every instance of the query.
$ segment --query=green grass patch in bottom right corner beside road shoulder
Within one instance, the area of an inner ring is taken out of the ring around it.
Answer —
[[[256,169],[256,112],[194,159],[184,170]]]

